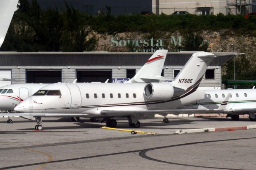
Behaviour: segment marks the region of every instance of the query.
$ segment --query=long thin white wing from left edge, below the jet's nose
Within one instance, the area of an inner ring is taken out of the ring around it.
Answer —
[[[60,113],[0,113],[0,117],[4,116],[34,116],[34,117],[78,117],[86,116],[88,114],[60,114]]]

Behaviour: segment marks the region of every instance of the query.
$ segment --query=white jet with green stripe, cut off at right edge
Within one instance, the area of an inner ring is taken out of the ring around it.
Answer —
[[[256,89],[205,90],[204,99],[179,109],[190,113],[227,113],[226,117],[234,121],[239,120],[239,115],[248,114],[251,121],[256,121],[255,96]]]

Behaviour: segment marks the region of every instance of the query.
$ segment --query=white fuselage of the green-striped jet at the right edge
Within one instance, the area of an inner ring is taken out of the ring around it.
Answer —
[[[256,89],[230,89],[230,90],[206,90],[204,99],[185,105],[179,109],[218,109],[228,94],[226,109],[221,112],[230,113],[235,109],[251,109],[256,106]]]

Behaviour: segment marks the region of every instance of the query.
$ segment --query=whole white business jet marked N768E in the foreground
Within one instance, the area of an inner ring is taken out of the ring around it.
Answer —
[[[160,54],[160,56],[166,53]],[[159,57],[150,59],[156,62]],[[114,117],[127,117],[130,127],[140,127],[145,114],[170,113],[175,108],[204,98],[197,91],[212,53],[194,53],[170,83],[55,83],[44,86],[14,108],[19,115],[36,117],[35,129],[42,129],[41,117],[104,118],[108,127],[116,127]],[[191,71],[193,70],[193,71]],[[171,110],[173,109],[173,110]],[[102,121],[103,122],[103,121]]]

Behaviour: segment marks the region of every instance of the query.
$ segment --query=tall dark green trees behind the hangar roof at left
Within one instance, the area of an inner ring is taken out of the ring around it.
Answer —
[[[93,51],[97,43],[87,38],[85,15],[66,4],[62,13],[56,8],[41,10],[36,0],[20,0],[1,51]]]

